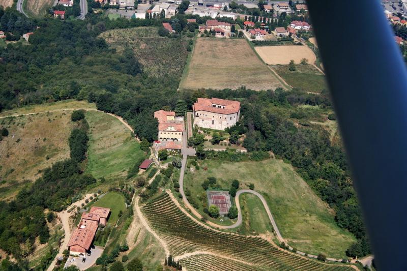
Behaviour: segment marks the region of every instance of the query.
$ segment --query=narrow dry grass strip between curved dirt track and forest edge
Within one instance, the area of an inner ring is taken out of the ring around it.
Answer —
[[[0,117],[63,109],[96,109],[96,105],[85,101],[65,100],[61,102],[28,105],[12,110],[3,111],[0,113]]]

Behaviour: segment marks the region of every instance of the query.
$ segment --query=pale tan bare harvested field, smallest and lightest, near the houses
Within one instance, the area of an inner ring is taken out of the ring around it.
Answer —
[[[268,65],[287,65],[291,59],[299,64],[304,57],[308,59],[309,64],[313,64],[316,60],[314,52],[305,45],[256,46],[254,48]]]

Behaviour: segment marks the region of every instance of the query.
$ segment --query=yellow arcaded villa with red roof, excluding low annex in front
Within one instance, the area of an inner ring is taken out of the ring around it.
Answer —
[[[158,110],[154,112],[158,119],[158,139],[160,141],[182,141],[184,133],[184,122],[177,121],[175,112]]]

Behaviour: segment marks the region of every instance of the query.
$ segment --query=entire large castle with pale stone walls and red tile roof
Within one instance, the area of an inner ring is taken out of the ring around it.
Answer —
[[[239,121],[240,102],[218,98],[198,98],[193,105],[194,125],[225,130]]]

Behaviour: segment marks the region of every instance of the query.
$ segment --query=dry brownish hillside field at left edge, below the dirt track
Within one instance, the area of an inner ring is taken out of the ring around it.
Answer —
[[[69,158],[71,111],[0,118],[9,135],[0,141],[0,197],[9,199],[41,176],[41,170]]]

